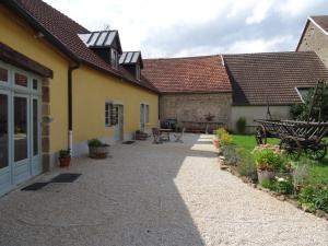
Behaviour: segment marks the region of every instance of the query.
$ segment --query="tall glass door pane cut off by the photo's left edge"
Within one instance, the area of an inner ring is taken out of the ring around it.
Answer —
[[[8,96],[0,94],[0,169],[8,166]]]

